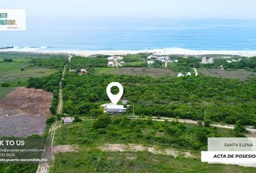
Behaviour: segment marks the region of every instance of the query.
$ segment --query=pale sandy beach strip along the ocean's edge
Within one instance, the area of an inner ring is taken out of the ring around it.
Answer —
[[[256,56],[256,50],[189,50],[183,48],[163,48],[152,50],[38,50],[33,48],[23,49],[3,49],[0,52],[22,52],[22,53],[69,53],[77,56],[103,55],[127,55],[137,53],[155,53],[158,55],[184,55],[184,56],[202,56],[202,55],[229,55],[229,56]]]

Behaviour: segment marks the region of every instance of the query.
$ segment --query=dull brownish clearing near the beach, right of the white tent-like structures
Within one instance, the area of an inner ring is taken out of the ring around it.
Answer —
[[[249,77],[255,76],[256,73],[253,71],[246,70],[223,70],[223,69],[197,69],[199,74],[203,74],[205,76],[211,77],[220,77],[220,78],[228,78],[228,79],[239,79],[245,81]]]

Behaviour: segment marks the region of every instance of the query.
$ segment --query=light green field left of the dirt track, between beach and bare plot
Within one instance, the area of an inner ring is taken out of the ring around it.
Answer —
[[[12,61],[4,61],[12,59]],[[25,86],[30,77],[43,77],[63,68],[67,55],[40,53],[0,53],[0,84]]]

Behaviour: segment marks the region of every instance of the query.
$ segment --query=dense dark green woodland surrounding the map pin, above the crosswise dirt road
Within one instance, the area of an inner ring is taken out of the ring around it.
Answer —
[[[136,115],[180,117],[255,125],[256,79],[247,82],[205,76],[151,78],[69,74],[64,81],[64,112],[87,115],[108,101],[105,89],[111,81],[124,86],[124,98],[135,105]],[[132,110],[128,109],[128,113]]]

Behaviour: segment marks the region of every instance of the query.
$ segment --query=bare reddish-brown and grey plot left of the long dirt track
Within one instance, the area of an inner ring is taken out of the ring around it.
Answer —
[[[0,100],[0,137],[43,135],[53,95],[43,89],[17,87]]]

